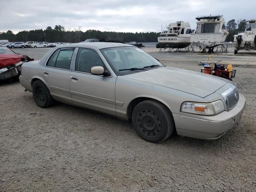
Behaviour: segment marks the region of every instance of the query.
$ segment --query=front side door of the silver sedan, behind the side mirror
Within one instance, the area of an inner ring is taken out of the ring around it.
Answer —
[[[102,59],[104,58],[100,51],[97,52],[91,48],[79,48],[76,62],[74,62],[70,74],[70,92],[74,104],[116,115],[116,76],[110,74]],[[91,74],[90,69],[93,66],[104,67],[109,75]]]

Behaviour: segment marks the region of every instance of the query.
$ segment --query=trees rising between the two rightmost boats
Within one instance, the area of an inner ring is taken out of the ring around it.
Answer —
[[[244,32],[246,28],[246,20],[240,19],[240,20],[229,20],[226,25],[226,30],[228,30],[229,34],[226,37],[226,41],[234,41],[234,35],[237,35],[238,32]]]

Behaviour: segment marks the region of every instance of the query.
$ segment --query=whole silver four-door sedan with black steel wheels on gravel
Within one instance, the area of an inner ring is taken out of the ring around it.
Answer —
[[[166,140],[174,129],[217,139],[240,121],[246,104],[229,80],[164,66],[120,43],[52,48],[22,65],[20,82],[42,108],[59,101],[131,120],[149,142]]]

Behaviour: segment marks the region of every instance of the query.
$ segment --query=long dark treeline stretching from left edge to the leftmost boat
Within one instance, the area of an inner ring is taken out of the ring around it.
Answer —
[[[160,33],[156,32],[108,32],[99,30],[87,30],[82,32],[81,27],[74,30],[66,30],[63,26],[47,27],[45,30],[20,31],[14,34],[12,31],[0,32],[0,39],[9,42],[45,41],[45,42],[81,42],[90,38],[103,38],[106,40],[118,40],[121,42],[157,42]]]

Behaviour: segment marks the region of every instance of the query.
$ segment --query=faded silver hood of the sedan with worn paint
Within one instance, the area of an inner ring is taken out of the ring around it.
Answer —
[[[172,67],[161,67],[123,76],[166,88],[187,92],[202,98],[229,82],[224,78]]]

